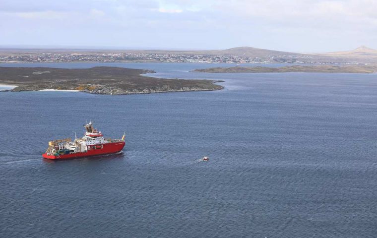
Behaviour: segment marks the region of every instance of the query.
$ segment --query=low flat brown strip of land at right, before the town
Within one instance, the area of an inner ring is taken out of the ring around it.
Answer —
[[[213,67],[194,69],[193,72],[205,73],[289,73],[289,72],[307,72],[307,73],[376,73],[376,65],[364,64],[323,64],[323,65],[290,65],[282,67]]]

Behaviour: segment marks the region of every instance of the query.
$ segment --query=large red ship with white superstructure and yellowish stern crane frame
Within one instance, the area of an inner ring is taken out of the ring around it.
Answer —
[[[90,121],[84,125],[86,131],[82,138],[72,141],[71,138],[49,141],[49,148],[42,154],[43,158],[50,160],[74,159],[98,155],[121,153],[126,145],[123,134],[122,139],[104,138],[101,131],[93,127]]]

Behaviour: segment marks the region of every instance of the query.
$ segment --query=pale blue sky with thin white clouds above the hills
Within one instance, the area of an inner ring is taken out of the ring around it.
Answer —
[[[0,46],[377,49],[377,0],[0,0]]]

